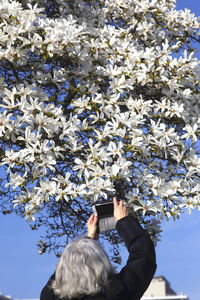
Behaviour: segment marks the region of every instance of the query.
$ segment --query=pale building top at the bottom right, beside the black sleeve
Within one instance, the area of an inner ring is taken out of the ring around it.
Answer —
[[[164,276],[154,277],[141,300],[189,300],[184,294],[177,295]]]

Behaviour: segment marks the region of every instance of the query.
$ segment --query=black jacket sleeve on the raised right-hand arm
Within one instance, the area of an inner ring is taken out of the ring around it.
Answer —
[[[120,219],[116,224],[129,252],[126,266],[118,274],[131,295],[138,300],[149,286],[156,271],[154,245],[148,234],[132,216]]]

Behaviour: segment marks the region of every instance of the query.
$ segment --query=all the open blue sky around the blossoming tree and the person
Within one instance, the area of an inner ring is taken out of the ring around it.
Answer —
[[[178,0],[178,8],[190,8],[200,16],[197,0]],[[156,275],[165,276],[177,293],[190,300],[200,295],[200,212],[184,214],[180,220],[163,223],[162,241],[157,253]],[[0,216],[0,291],[12,298],[39,297],[54,271],[57,258],[39,255],[36,243],[41,231],[31,231],[28,224],[14,215]],[[126,251],[122,249],[123,261]]]

